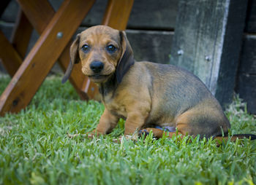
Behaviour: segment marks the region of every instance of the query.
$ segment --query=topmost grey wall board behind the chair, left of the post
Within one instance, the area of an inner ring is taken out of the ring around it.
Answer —
[[[59,9],[63,0],[50,0],[53,8]],[[119,0],[120,1],[120,0]],[[102,23],[102,17],[107,6],[107,0],[97,0],[89,12],[88,16],[83,20],[81,25],[91,26]],[[15,16],[11,12],[18,11],[18,4],[15,0],[10,3],[7,12],[4,12],[2,20],[14,22]],[[132,12],[129,17],[127,28],[147,28],[157,30],[173,30],[176,23],[176,14],[178,0],[140,0],[135,1],[132,7]]]

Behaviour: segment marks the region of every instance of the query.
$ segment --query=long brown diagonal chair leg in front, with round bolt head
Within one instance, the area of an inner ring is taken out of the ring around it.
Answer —
[[[0,98],[0,115],[25,108],[93,5],[90,0],[66,0],[26,57]],[[83,8],[81,8],[83,7]],[[70,26],[72,25],[72,26]],[[62,32],[63,37],[56,35]]]

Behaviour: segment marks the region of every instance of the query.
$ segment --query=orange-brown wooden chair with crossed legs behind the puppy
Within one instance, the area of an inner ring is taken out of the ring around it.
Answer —
[[[11,43],[0,31],[0,58],[12,76],[0,97],[0,115],[24,109],[44,81],[53,64],[58,61],[66,71],[69,64],[70,39],[86,17],[95,0],[65,0],[57,12],[47,0],[18,0],[20,12]],[[133,0],[109,0],[103,25],[124,30]],[[25,57],[33,28],[40,34]],[[97,95],[97,86],[90,82],[75,65],[69,81],[80,98],[88,100]]]

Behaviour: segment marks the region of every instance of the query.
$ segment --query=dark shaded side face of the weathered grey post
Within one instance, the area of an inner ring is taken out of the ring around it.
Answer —
[[[230,103],[233,98],[244,35],[247,4],[247,0],[242,2],[230,0],[215,92],[215,96],[222,105]]]

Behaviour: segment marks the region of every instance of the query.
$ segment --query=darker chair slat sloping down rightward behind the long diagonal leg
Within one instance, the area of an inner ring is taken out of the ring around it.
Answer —
[[[44,31],[45,26],[48,25],[50,20],[52,19],[53,15],[55,14],[53,7],[49,4],[47,0],[18,0],[20,6],[23,8],[26,16],[29,17],[29,21],[32,23],[34,28],[37,30],[39,34],[42,34]],[[91,3],[94,3],[91,2]],[[42,7],[42,4],[44,5]],[[31,9],[33,10],[31,12]],[[40,10],[41,9],[41,10]],[[46,13],[48,12],[48,13]],[[67,44],[64,51],[61,53],[59,57],[59,65],[61,66],[63,71],[67,70],[67,66],[69,65],[69,47],[71,46],[72,42]],[[72,74],[69,77],[69,82],[75,87],[75,90],[80,95],[81,99],[88,99],[86,92],[81,90],[83,86],[83,80],[87,77],[82,73],[80,69],[80,65],[75,65],[73,68]]]

